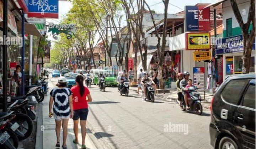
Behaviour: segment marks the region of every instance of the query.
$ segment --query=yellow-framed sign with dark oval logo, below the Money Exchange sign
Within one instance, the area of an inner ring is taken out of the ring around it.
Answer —
[[[186,50],[210,49],[210,33],[186,33]]]

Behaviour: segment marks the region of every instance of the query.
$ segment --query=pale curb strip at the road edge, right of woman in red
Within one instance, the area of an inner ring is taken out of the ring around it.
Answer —
[[[97,148],[97,149],[112,149],[108,145],[108,143],[99,134],[95,133],[95,131],[89,121],[86,121],[86,127],[89,129],[89,130],[87,129],[86,136],[88,136],[89,140],[92,142],[92,144],[94,144],[95,148]],[[102,141],[100,141],[100,139],[102,139]]]

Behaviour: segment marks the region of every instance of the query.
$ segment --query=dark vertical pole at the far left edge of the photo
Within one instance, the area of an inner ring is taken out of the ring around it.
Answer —
[[[8,37],[8,26],[7,26],[7,18],[8,18],[8,0],[4,0],[4,12],[3,12],[3,38],[6,40]],[[2,73],[3,73],[3,78],[2,78],[2,87],[3,87],[3,98],[4,98],[4,107],[3,107],[3,112],[7,112],[7,45],[3,45],[3,56],[2,56]]]

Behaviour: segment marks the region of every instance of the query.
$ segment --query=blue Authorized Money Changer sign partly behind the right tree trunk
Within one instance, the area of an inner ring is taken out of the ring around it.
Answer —
[[[255,50],[255,40],[252,50]],[[242,35],[215,40],[215,54],[237,53],[242,51],[244,51]]]

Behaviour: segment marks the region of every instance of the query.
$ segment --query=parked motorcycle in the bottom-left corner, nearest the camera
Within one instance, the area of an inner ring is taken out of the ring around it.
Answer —
[[[13,111],[0,113],[0,148],[1,149],[16,149],[18,148],[18,137],[6,126],[13,120],[16,115]]]

